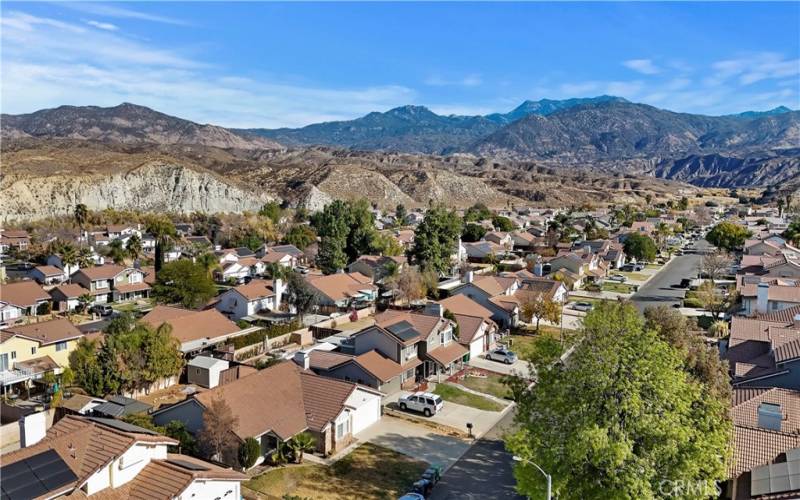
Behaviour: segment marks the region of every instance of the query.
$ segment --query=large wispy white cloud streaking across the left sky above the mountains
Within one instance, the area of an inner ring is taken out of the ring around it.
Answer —
[[[6,113],[128,101],[202,123],[281,127],[351,119],[416,99],[399,85],[331,89],[225,74],[114,32],[22,13],[2,21],[0,105]]]

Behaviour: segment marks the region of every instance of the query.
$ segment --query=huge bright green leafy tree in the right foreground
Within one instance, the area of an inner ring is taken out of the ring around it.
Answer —
[[[563,499],[660,497],[663,481],[724,479],[731,452],[728,402],[706,397],[681,352],[645,328],[636,309],[604,303],[584,319],[569,360],[539,367],[518,404],[509,450],[520,493],[541,498],[552,475]]]

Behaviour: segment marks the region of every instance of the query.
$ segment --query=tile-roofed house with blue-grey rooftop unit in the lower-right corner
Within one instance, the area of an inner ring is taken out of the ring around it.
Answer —
[[[734,453],[720,498],[798,498],[800,392],[735,388],[731,419]]]

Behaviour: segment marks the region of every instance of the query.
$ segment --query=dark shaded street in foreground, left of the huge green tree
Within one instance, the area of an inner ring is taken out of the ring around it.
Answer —
[[[479,439],[433,489],[432,500],[523,499],[514,490],[513,460],[501,440],[513,425],[514,412]]]

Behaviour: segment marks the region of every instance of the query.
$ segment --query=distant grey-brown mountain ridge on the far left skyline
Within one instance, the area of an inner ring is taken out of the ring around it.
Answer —
[[[254,135],[200,125],[144,106],[60,106],[26,115],[2,115],[3,138],[92,139],[123,144],[200,144],[218,148],[280,148]]]

